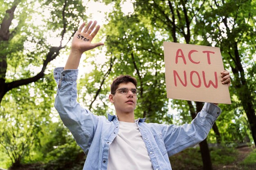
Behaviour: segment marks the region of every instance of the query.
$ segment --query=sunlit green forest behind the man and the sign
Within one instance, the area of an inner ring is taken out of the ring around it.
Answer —
[[[232,104],[219,105],[222,114],[207,139],[186,151],[186,162],[177,155],[171,164],[211,170],[236,161],[234,147],[255,148],[256,0],[97,1],[103,8],[93,2],[0,0],[0,168],[82,169],[86,157],[54,109],[52,71],[64,66],[79,23],[95,19],[87,11],[104,15],[94,42],[105,46],[82,56],[82,106],[96,115],[115,114],[110,83],[129,74],[141,91],[135,117],[189,123],[203,103],[166,98],[163,42],[216,46],[231,74]],[[255,167],[255,149],[249,156],[247,168]]]

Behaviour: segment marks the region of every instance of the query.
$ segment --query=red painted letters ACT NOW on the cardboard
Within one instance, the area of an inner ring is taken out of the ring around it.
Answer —
[[[189,61],[191,63],[199,64],[200,61],[195,61],[195,60],[192,59],[191,55],[192,55],[192,53],[195,53],[195,52],[198,52],[198,51],[196,51],[196,50],[189,51],[188,58],[189,58]],[[210,65],[211,64],[210,54],[214,54],[214,52],[213,51],[202,51],[202,53],[206,53],[207,54],[207,62]],[[184,64],[186,65],[186,59],[185,59],[185,56],[184,56],[184,53],[183,53],[182,49],[178,49],[177,52],[176,52],[175,64],[178,63],[178,59],[179,58],[182,58]],[[187,86],[186,71],[184,71],[183,74],[184,74],[184,81],[180,78],[180,75],[178,74],[178,72],[176,70],[173,70],[174,85],[176,87],[177,87],[177,78],[180,80],[180,83],[182,84],[182,86],[184,86],[184,87]],[[193,76],[198,77],[198,82],[195,82],[196,79],[193,79]],[[201,87],[202,81],[201,81],[201,78],[200,78],[200,74],[197,71],[191,71],[189,77],[190,77],[190,83],[191,83],[192,86],[194,86],[195,88],[200,88]],[[204,82],[204,86],[206,88],[209,88],[211,85],[214,88],[218,88],[218,78],[217,78],[217,72],[216,71],[214,72],[214,77],[215,77],[215,84],[211,80],[209,80],[209,82],[207,84],[207,81],[206,81],[206,78],[205,78],[205,72],[202,71],[202,79],[203,79],[203,82]]]

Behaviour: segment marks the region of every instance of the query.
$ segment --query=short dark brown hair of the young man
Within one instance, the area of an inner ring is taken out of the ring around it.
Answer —
[[[133,83],[135,87],[137,87],[137,80],[130,75],[120,75],[116,77],[110,86],[111,94],[115,93],[119,84],[129,82]]]

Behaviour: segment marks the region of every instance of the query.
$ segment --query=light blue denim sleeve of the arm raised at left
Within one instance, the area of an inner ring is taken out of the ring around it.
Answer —
[[[54,79],[58,85],[54,107],[76,143],[83,150],[87,150],[92,143],[99,117],[82,108],[76,101],[77,75],[78,70],[63,70],[63,67],[54,69]]]

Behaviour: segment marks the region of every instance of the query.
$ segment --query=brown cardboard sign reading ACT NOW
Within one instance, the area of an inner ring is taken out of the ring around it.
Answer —
[[[164,42],[167,97],[231,104],[220,48]]]

